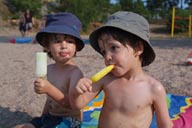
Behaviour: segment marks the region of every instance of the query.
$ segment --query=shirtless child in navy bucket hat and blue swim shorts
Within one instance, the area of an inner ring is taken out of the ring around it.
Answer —
[[[81,110],[72,110],[68,98],[69,87],[83,77],[73,61],[76,52],[84,47],[80,29],[80,20],[71,13],[47,16],[46,27],[37,33],[36,40],[55,63],[48,65],[47,80],[37,78],[34,82],[35,92],[47,94],[47,101],[41,117],[16,128],[56,128],[59,124],[80,127]]]

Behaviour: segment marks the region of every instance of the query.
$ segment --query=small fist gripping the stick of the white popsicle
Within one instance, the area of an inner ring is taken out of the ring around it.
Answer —
[[[38,78],[34,81],[34,90],[38,94],[44,94],[48,92],[50,83],[46,79]]]

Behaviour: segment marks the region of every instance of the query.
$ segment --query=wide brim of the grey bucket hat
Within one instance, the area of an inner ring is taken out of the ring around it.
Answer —
[[[90,44],[91,46],[98,52],[101,54],[101,51],[100,51],[100,48],[99,48],[99,45],[98,45],[98,33],[99,31],[101,31],[101,29],[105,29],[105,28],[108,28],[108,27],[111,27],[111,28],[117,28],[117,29],[121,29],[125,32],[129,32],[139,38],[141,38],[144,42],[146,42],[144,44],[144,56],[143,56],[143,61],[142,61],[142,66],[147,66],[149,64],[151,64],[154,60],[155,60],[155,52],[150,44],[150,41],[147,37],[141,37],[141,36],[138,36],[138,35],[143,35],[143,34],[138,34],[140,33],[139,31],[135,31],[133,28],[131,28],[130,26],[130,29],[125,29],[124,27],[122,26],[117,26],[117,24],[106,24],[106,25],[103,25],[97,29],[95,29],[89,36],[89,41],[90,41]],[[132,31],[133,30],[133,31]]]

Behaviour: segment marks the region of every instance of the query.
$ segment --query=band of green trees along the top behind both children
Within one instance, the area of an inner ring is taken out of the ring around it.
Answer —
[[[183,8],[183,4],[188,8]],[[83,31],[90,25],[102,23],[111,13],[119,10],[132,11],[151,19],[170,20],[171,9],[176,7],[180,15],[192,14],[192,0],[1,0],[0,16],[18,18],[19,12],[30,9],[36,18],[56,12],[72,12],[83,23]]]

